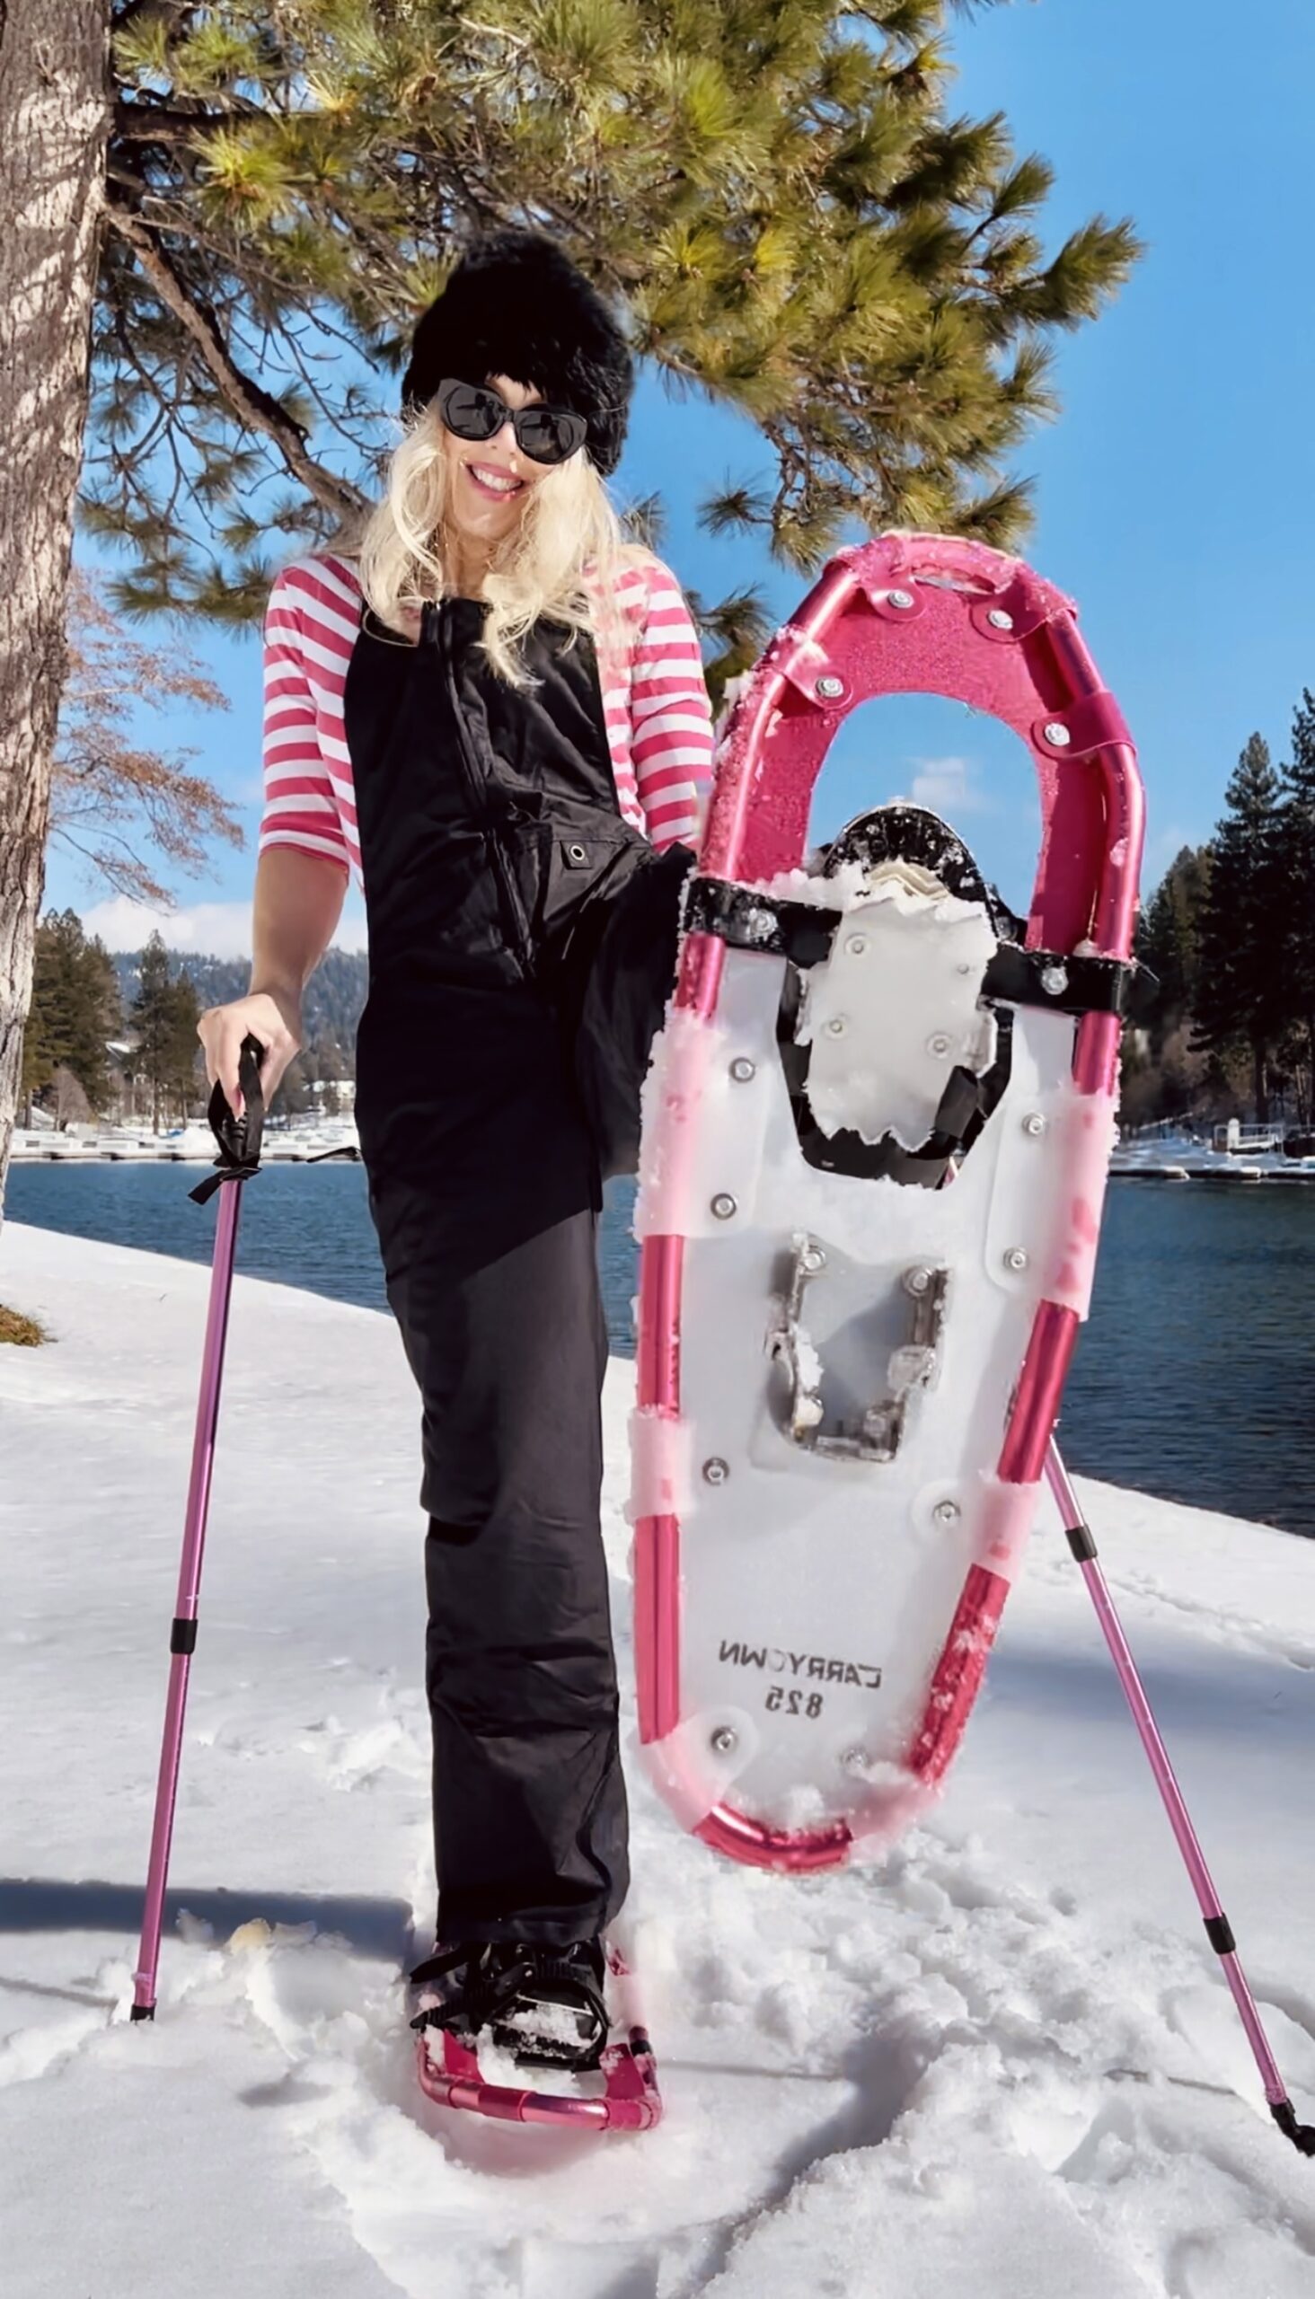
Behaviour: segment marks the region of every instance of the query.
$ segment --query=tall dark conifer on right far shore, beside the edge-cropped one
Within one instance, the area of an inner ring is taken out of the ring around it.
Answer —
[[[1209,846],[1200,917],[1195,1046],[1251,1051],[1258,1124],[1269,1122],[1269,1051],[1283,1032],[1283,963],[1276,947],[1281,890],[1281,784],[1269,745],[1253,733],[1225,791]]]

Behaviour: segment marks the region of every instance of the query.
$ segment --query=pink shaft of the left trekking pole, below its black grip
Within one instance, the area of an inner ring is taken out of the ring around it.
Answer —
[[[200,1561],[205,1554],[205,1520],[209,1513],[209,1478],[214,1469],[214,1432],[218,1428],[218,1391],[223,1382],[223,1343],[228,1336],[228,1304],[232,1294],[232,1255],[237,1246],[237,1216],[241,1209],[241,1182],[225,1182],[218,1191],[218,1218],[214,1230],[214,1262],[209,1274],[209,1310],[205,1320],[205,1350],[200,1361],[200,1398],[195,1407],[195,1435],[191,1448],[191,1483],[186,1494],[186,1520],[182,1536],[182,1563],[177,1575],[175,1635],[170,1639],[170,1671],[166,1694],[166,1722],[161,1743],[161,1766],[156,1779],[156,1809],[152,1825],[152,1858],[147,1869],[147,1899],[143,1913],[143,1940],[138,1968],[133,1973],[133,2019],[154,2019],[156,1970],[161,1952],[163,1897],[168,1883],[168,1855],[172,1844],[172,1816],[177,1805],[177,1768],[182,1754],[182,1727],[186,1715],[186,1681],[191,1651],[177,1651],[177,1623],[195,1623],[200,1605]]]

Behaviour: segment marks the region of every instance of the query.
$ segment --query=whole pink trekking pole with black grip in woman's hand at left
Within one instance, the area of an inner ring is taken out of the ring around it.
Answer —
[[[237,1246],[237,1214],[241,1207],[241,1184],[260,1170],[260,1136],[264,1129],[264,1099],[260,1092],[260,1060],[264,1046],[255,1037],[241,1041],[239,1083],[244,1113],[234,1117],[223,1087],[209,1097],[209,1124],[218,1143],[216,1170],[198,1189],[189,1191],[205,1205],[214,1191],[218,1198],[218,1223],[214,1230],[214,1262],[209,1274],[209,1313],[205,1322],[205,1350],[200,1361],[200,1400],[195,1407],[195,1437],[191,1448],[191,1485],[186,1494],[186,1520],[182,1536],[182,1563],[177,1575],[177,1602],[170,1628],[170,1671],[166,1697],[166,1722],[161,1743],[161,1768],[156,1782],[156,1812],[152,1828],[152,1858],[147,1869],[147,1899],[143,1910],[143,1943],[133,1973],[131,2019],[156,2016],[156,1966],[161,1952],[163,1897],[168,1883],[168,1855],[172,1844],[172,1814],[177,1802],[177,1768],[182,1756],[182,1727],[186,1710],[186,1678],[195,1651],[195,1616],[200,1602],[200,1559],[205,1550],[205,1520],[209,1510],[209,1474],[214,1464],[214,1432],[218,1423],[218,1386],[223,1379],[223,1343],[228,1333],[228,1297],[232,1292],[232,1253]],[[232,1186],[223,1186],[223,1184]]]

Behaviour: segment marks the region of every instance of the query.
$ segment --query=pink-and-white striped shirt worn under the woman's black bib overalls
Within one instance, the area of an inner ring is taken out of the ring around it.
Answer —
[[[694,846],[713,775],[713,715],[699,637],[660,559],[625,568],[625,653],[600,687],[621,814],[662,853]],[[356,644],[361,582],[347,559],[283,568],[264,612],[264,816],[260,851],[301,846],[361,878],[343,685]]]

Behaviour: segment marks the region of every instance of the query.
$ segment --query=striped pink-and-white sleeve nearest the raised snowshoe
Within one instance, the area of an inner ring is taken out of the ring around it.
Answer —
[[[713,784],[713,708],[699,632],[680,584],[660,561],[630,667],[630,756],[657,853],[676,839],[697,846]]]

